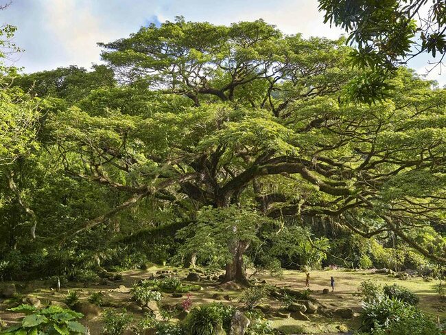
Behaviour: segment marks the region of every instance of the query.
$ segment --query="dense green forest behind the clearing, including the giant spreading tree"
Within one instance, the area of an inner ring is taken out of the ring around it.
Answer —
[[[178,17],[99,45],[91,71],[3,66],[2,281],[64,288],[158,264],[249,296],[255,275],[289,270],[444,278],[446,89],[397,67],[384,95],[355,100],[368,69],[345,38],[262,20]]]

